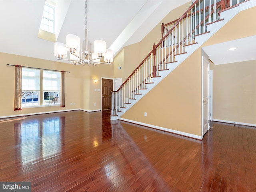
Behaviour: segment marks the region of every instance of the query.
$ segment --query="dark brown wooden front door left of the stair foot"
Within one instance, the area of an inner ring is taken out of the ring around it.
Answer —
[[[111,109],[112,79],[102,79],[102,110]]]

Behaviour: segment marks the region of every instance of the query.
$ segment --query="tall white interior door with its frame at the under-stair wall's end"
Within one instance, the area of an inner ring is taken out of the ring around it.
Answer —
[[[202,56],[202,132],[209,130],[209,66],[210,62]]]

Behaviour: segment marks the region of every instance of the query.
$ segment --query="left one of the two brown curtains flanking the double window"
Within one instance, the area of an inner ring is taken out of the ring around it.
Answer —
[[[14,111],[22,110],[22,66],[15,65]]]

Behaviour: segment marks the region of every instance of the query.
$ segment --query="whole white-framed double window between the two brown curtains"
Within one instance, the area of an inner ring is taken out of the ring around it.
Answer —
[[[60,105],[60,82],[60,72],[22,68],[22,107]]]

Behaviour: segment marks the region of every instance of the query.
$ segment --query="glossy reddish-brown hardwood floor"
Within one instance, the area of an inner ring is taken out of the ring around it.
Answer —
[[[256,191],[256,129],[214,122],[202,141],[110,111],[0,119],[0,181],[32,192]]]

